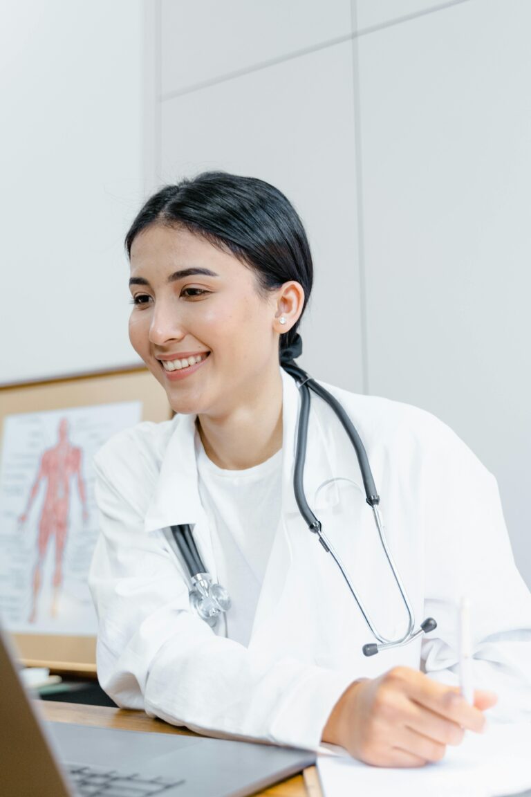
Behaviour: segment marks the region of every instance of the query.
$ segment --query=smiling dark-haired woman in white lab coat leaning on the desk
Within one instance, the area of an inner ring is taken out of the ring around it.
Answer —
[[[497,698],[491,713],[531,715],[531,600],[494,478],[430,414],[326,386],[365,445],[415,629],[428,616],[437,623],[408,644],[362,652],[375,638],[295,500],[301,387],[282,366],[300,351],[312,263],[287,198],[258,179],[199,175],[150,198],[126,243],[131,344],[176,415],[118,434],[96,457],[90,584],[103,689],[198,732],[306,748],[324,740],[381,766],[441,759],[466,730],[482,732]],[[349,341],[328,345],[348,367]],[[303,487],[378,633],[403,637],[408,612],[356,453],[316,395]],[[190,599],[172,531],[185,525],[230,596],[213,626]],[[463,594],[470,702],[458,688]]]

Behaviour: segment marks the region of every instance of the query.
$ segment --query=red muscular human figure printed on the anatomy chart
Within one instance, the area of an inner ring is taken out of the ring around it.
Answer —
[[[41,590],[42,566],[49,544],[55,538],[55,567],[53,571],[52,617],[57,615],[57,599],[63,580],[63,553],[68,533],[68,508],[70,503],[70,480],[77,477],[77,489],[83,505],[83,520],[88,520],[87,497],[84,480],[81,475],[81,449],[72,446],[68,440],[68,420],[61,418],[59,422],[59,439],[52,448],[45,450],[41,456],[37,477],[29,493],[28,505],[20,516],[19,522],[25,524],[29,510],[37,497],[41,481],[46,483],[45,499],[41,508],[38,523],[37,563],[33,570],[32,607],[29,622],[35,622],[37,616],[37,599]]]

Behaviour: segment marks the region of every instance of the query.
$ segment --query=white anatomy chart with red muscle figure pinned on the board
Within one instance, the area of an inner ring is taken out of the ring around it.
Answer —
[[[141,415],[135,401],[5,418],[0,618],[8,630],[96,634],[87,583],[98,535],[92,457]]]

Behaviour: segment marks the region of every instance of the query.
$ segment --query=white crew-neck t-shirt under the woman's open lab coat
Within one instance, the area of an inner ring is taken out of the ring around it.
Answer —
[[[232,605],[229,638],[248,645],[280,517],[282,449],[254,468],[225,470],[209,459],[196,431],[199,497],[209,521],[217,577]]]

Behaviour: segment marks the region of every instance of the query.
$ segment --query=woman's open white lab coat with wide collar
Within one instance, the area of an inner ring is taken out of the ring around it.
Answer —
[[[194,416],[141,423],[96,456],[101,533],[90,586],[103,689],[123,707],[209,735],[315,748],[335,702],[358,677],[400,664],[458,682],[455,602],[467,595],[475,687],[498,692],[499,717],[531,717],[531,596],[513,562],[494,477],[430,414],[326,386],[365,443],[417,626],[428,616],[438,623],[408,646],[365,658],[361,647],[372,634],[295,503],[299,391],[284,371],[282,379],[281,513],[248,647],[226,638],[223,622],[213,631],[190,609],[188,575],[170,541],[170,524],[194,524],[201,557],[217,577],[197,492]],[[304,482],[378,629],[400,634],[404,604],[356,457],[315,395]]]

